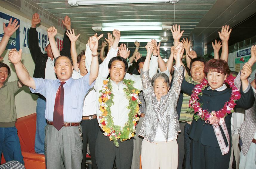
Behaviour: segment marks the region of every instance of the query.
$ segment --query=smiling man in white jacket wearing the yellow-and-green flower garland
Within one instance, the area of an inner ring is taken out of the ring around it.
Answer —
[[[97,104],[97,117],[100,116],[101,111],[99,110],[98,98],[100,96],[100,90],[102,89],[103,80],[107,79],[110,73],[110,82],[112,85],[112,93],[114,98],[112,99],[114,104],[110,107],[111,116],[113,117],[114,125],[119,125],[121,128],[124,127],[125,123],[128,121],[129,100],[127,99],[124,88],[127,86],[123,83],[123,79],[133,80],[134,87],[141,90],[142,83],[140,75],[130,75],[126,73],[128,68],[128,63],[126,58],[129,57],[128,52],[122,49],[120,52],[124,52],[123,57],[116,57],[118,51],[118,42],[120,39],[120,32],[117,30],[113,31],[115,37],[114,43],[109,50],[107,57],[104,59],[99,67],[99,75],[97,77],[94,89],[96,91],[96,104]],[[90,53],[86,52],[86,65],[90,65]],[[116,58],[115,58],[116,57]],[[158,68],[158,58],[152,56],[150,61],[150,74],[155,74]],[[98,123],[100,124],[100,119],[98,118]],[[117,168],[129,169],[132,162],[132,152],[133,152],[133,139],[129,139],[123,142],[118,140],[119,147],[117,148],[112,141],[103,135],[100,130],[98,132],[96,140],[96,162],[99,169],[112,169],[114,161],[116,162]]]

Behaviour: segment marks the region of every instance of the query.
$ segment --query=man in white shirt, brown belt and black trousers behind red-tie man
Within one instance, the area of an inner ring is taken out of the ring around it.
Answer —
[[[79,55],[77,55],[75,43],[79,35],[76,36],[74,30],[72,31],[70,30],[70,32],[67,31],[67,36],[71,41],[70,52],[71,52],[71,58],[74,65],[72,78],[79,79],[81,77],[84,77],[88,73],[87,70],[90,70],[90,66],[86,67],[85,65],[85,59],[87,54],[90,56],[92,55],[92,51],[90,50],[89,44],[86,44],[86,51],[83,50]],[[103,35],[100,35],[99,37],[97,37],[98,40],[102,36]],[[93,53],[97,53],[97,48],[98,46],[95,47],[95,50],[93,51]],[[84,98],[83,117],[81,121],[81,126],[83,130],[82,131],[83,160],[81,163],[81,168],[85,168],[87,143],[89,142],[90,156],[92,159],[92,168],[97,169],[96,159],[95,159],[95,142],[96,142],[96,138],[99,131],[99,124],[98,124],[97,115],[96,115],[96,92],[94,88],[91,88]]]

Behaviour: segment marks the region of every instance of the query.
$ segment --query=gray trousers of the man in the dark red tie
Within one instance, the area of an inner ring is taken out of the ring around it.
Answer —
[[[48,169],[81,169],[83,155],[79,128],[62,127],[58,131],[53,125],[46,125],[44,151]]]

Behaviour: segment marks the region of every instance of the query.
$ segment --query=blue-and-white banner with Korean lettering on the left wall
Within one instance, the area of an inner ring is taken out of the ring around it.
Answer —
[[[14,21],[14,19],[17,19],[13,16],[10,16],[10,15],[0,12],[0,23],[4,22],[5,25],[7,26],[10,18],[13,18],[13,21]],[[17,50],[22,49],[22,52],[30,53],[29,44],[28,44],[28,36],[29,36],[29,29],[30,29],[31,23],[28,24],[19,19],[17,19],[17,21],[18,21],[18,24],[20,24],[20,27],[11,36],[11,38],[6,46],[6,49],[16,48]],[[46,47],[46,43],[48,41],[47,30],[46,29],[44,30],[41,27],[37,27],[36,30],[38,32],[38,45],[40,46],[41,52],[45,53],[44,48]],[[0,41],[2,40],[3,36],[4,36],[4,29],[0,24]],[[63,37],[59,37],[58,35],[56,35],[55,41],[58,44],[58,49],[61,50],[63,47]]]

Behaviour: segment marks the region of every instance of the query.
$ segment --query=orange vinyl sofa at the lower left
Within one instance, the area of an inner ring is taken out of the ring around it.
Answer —
[[[46,169],[45,157],[43,154],[37,154],[35,148],[36,135],[36,113],[21,117],[16,121],[18,137],[21,144],[21,153],[26,169]],[[2,154],[1,164],[5,163]]]

